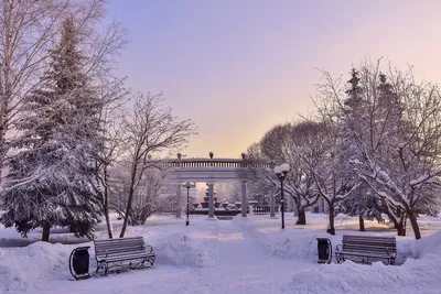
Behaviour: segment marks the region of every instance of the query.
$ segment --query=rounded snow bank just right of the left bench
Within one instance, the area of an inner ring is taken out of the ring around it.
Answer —
[[[153,244],[157,262],[178,265],[207,268],[215,264],[215,255],[207,248],[191,241],[185,233],[172,233]]]

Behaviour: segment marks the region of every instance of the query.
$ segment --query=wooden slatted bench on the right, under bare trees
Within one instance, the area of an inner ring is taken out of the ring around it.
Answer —
[[[344,235],[342,244],[337,244],[335,249],[337,263],[349,259],[368,264],[374,261],[383,261],[392,265],[397,257],[395,237]]]

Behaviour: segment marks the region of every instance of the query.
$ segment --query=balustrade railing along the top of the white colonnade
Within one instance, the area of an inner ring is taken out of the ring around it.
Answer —
[[[230,167],[230,168],[271,168],[272,163],[255,160],[235,160],[235,159],[182,159],[164,160],[162,165],[165,167]]]

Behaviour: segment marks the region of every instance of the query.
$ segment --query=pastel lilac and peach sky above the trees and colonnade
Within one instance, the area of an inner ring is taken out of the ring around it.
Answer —
[[[187,156],[239,157],[273,124],[313,111],[318,68],[362,59],[441,78],[441,1],[112,0],[130,31],[120,75],[163,91],[198,134]]]

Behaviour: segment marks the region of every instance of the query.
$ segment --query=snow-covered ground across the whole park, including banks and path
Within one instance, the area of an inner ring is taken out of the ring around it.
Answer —
[[[191,216],[191,226],[171,216],[154,216],[144,226],[130,227],[127,236],[142,236],[153,246],[157,262],[152,269],[93,274],[73,281],[68,255],[84,239],[65,230],[55,231],[52,242],[29,239],[13,229],[0,227],[0,293],[441,293],[441,218],[420,219],[424,238],[413,241],[411,229],[398,240],[399,266],[318,264],[318,237],[324,233],[325,215],[308,215],[309,225],[295,226],[287,216],[280,219],[250,216],[246,219],[208,221]],[[118,231],[120,221],[114,218]],[[357,232],[357,219],[338,216],[337,235],[395,235],[387,225],[367,222],[367,232]],[[105,225],[98,238],[106,238]],[[63,244],[61,244],[62,242]],[[93,242],[90,272],[94,272]],[[83,244],[82,244],[83,246]]]

